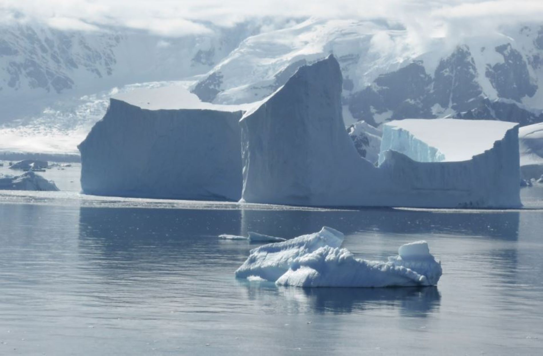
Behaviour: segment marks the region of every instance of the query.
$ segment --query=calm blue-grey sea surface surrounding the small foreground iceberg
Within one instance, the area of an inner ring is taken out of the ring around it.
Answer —
[[[303,209],[0,191],[1,355],[543,354],[543,187],[525,209]],[[4,168],[0,173],[8,173]],[[424,239],[437,288],[300,289],[237,280],[258,246],[331,226],[386,259]]]

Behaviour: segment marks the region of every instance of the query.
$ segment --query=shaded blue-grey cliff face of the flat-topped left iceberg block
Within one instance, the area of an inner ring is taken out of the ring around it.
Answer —
[[[144,110],[111,99],[85,140],[81,188],[86,194],[238,200],[242,112]]]

